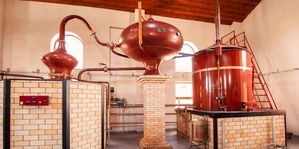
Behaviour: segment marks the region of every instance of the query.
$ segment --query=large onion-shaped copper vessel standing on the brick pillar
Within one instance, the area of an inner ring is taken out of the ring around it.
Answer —
[[[160,64],[176,56],[184,44],[176,27],[152,18],[142,21],[142,45],[139,45],[138,38],[138,23],[135,23],[123,30],[119,43],[124,54],[144,64],[143,75],[161,75]]]

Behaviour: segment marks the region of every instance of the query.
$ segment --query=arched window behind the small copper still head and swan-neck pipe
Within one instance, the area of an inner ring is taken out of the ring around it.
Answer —
[[[50,51],[53,52],[58,46],[59,33],[51,40]],[[65,32],[65,49],[68,54],[74,56],[78,61],[75,69],[83,69],[83,43],[78,35],[73,32]],[[54,46],[55,45],[55,46]]]

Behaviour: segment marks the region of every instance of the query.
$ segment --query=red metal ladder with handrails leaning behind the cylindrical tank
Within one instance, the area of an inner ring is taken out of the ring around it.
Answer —
[[[246,47],[246,44],[248,45],[250,51],[251,51],[251,68],[252,68],[252,98],[254,101],[258,102],[258,108],[259,109],[271,109],[273,110],[273,106],[272,103],[274,104],[276,110],[277,110],[277,106],[273,100],[273,97],[270,93],[269,87],[265,81],[265,78],[260,70],[259,65],[257,64],[257,60],[254,57],[254,54],[251,50],[251,47],[247,41],[247,38],[245,36],[245,32],[242,32],[239,35],[235,35],[235,31],[229,33],[228,35],[233,34],[233,38],[230,38],[230,40],[227,43],[231,44],[231,45],[235,45],[235,46],[240,46],[242,48],[248,49]],[[228,36],[226,35],[226,36]],[[238,42],[237,37],[242,37],[242,40]],[[226,37],[224,36],[224,37]],[[222,37],[222,38],[224,38]],[[222,40],[221,38],[221,40]],[[242,45],[240,45],[242,44]]]

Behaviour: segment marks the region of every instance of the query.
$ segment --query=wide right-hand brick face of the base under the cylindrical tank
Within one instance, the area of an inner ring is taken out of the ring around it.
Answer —
[[[226,149],[268,149],[272,144],[272,117],[225,118]],[[285,145],[284,115],[275,115],[275,143]],[[222,147],[222,119],[218,119],[218,144]]]

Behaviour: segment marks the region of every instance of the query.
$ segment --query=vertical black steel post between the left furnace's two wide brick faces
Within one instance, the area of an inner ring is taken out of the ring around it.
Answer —
[[[62,149],[70,149],[70,81],[62,80]]]

